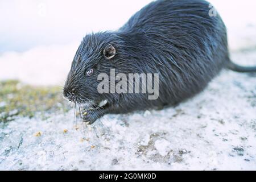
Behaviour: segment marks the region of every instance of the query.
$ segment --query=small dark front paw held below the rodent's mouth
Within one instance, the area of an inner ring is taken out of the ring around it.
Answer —
[[[104,115],[100,109],[86,110],[82,113],[82,119],[87,125],[92,125],[97,119]]]

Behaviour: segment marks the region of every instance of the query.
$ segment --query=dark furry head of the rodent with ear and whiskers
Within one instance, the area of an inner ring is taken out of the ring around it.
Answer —
[[[78,104],[99,104],[106,100],[97,91],[100,73],[109,75],[119,57],[121,39],[111,32],[86,35],[73,59],[64,86],[64,97]]]

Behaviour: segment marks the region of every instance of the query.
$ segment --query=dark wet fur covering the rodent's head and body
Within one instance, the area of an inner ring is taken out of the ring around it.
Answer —
[[[89,111],[84,118],[93,123],[108,113],[178,104],[201,92],[222,68],[246,72],[244,67],[230,66],[226,27],[220,15],[210,17],[209,10],[209,2],[203,0],[155,1],[118,31],[86,35],[73,60],[64,96],[80,104],[108,100],[108,105]],[[109,44],[117,54],[106,60],[102,52]],[[86,77],[89,68],[94,73]],[[148,100],[147,94],[99,94],[97,76],[109,74],[110,68],[116,74],[159,73],[158,100]]]

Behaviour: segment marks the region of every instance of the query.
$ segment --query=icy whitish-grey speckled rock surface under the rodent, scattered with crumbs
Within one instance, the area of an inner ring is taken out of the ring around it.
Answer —
[[[0,169],[256,169],[256,75],[222,71],[179,106],[73,121],[70,111],[1,123]]]

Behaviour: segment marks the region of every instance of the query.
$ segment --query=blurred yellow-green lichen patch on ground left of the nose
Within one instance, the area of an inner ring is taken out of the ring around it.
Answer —
[[[68,109],[61,88],[25,85],[16,80],[0,81],[0,122]]]

